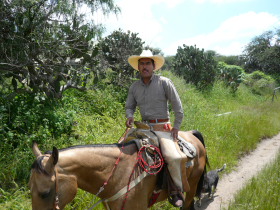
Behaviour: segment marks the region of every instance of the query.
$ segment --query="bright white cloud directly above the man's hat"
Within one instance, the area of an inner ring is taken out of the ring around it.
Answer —
[[[164,17],[156,17],[152,9],[158,5],[174,8],[183,0],[117,0],[116,4],[121,8],[121,14],[116,17],[110,15],[102,20],[106,24],[107,33],[121,28],[125,32],[130,30],[138,33],[145,44],[158,46],[162,41],[162,32],[168,20]]]

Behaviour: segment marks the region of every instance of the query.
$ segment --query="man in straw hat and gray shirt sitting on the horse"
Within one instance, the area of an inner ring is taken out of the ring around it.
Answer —
[[[138,106],[143,122],[154,131],[166,132],[166,135],[160,138],[160,146],[175,184],[171,190],[171,203],[176,207],[181,207],[183,205],[182,192],[185,191],[181,176],[181,159],[184,157],[176,143],[184,115],[180,97],[170,79],[154,74],[154,71],[163,66],[163,56],[153,55],[150,50],[144,50],[140,56],[130,56],[128,63],[140,72],[141,79],[134,82],[129,89],[125,106],[126,126],[132,127],[134,112]],[[168,103],[172,105],[175,114],[173,127],[170,123]]]

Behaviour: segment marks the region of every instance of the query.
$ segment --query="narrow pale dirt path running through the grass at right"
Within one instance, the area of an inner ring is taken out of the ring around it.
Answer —
[[[253,152],[239,161],[239,166],[230,174],[220,178],[214,200],[206,197],[202,199],[202,206],[197,210],[221,210],[227,208],[234,194],[240,190],[246,182],[255,176],[260,170],[269,164],[280,152],[280,133],[271,139],[261,141]]]

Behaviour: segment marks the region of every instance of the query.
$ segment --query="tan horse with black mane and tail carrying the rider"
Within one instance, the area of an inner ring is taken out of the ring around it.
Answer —
[[[192,166],[187,168],[190,190],[181,207],[189,210],[194,209],[194,197],[201,193],[208,160],[199,132],[180,131],[179,134],[187,136],[197,150]],[[78,145],[59,150],[53,147],[51,152],[45,154],[39,150],[37,143],[33,143],[32,150],[36,157],[29,180],[33,210],[63,209],[75,198],[78,188],[98,195],[100,201],[114,197],[121,189],[127,189],[117,198],[103,202],[107,210],[149,208],[158,175],[141,177],[142,181],[138,180],[135,186],[129,183],[137,165],[138,149],[133,142]],[[155,202],[167,198],[167,190],[163,189]]]

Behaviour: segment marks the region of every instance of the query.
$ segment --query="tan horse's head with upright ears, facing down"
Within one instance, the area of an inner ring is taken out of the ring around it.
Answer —
[[[33,144],[36,160],[32,165],[29,187],[32,196],[33,210],[59,209],[56,202],[57,184],[55,165],[58,161],[58,150],[54,147],[50,154],[42,154],[36,143]]]

